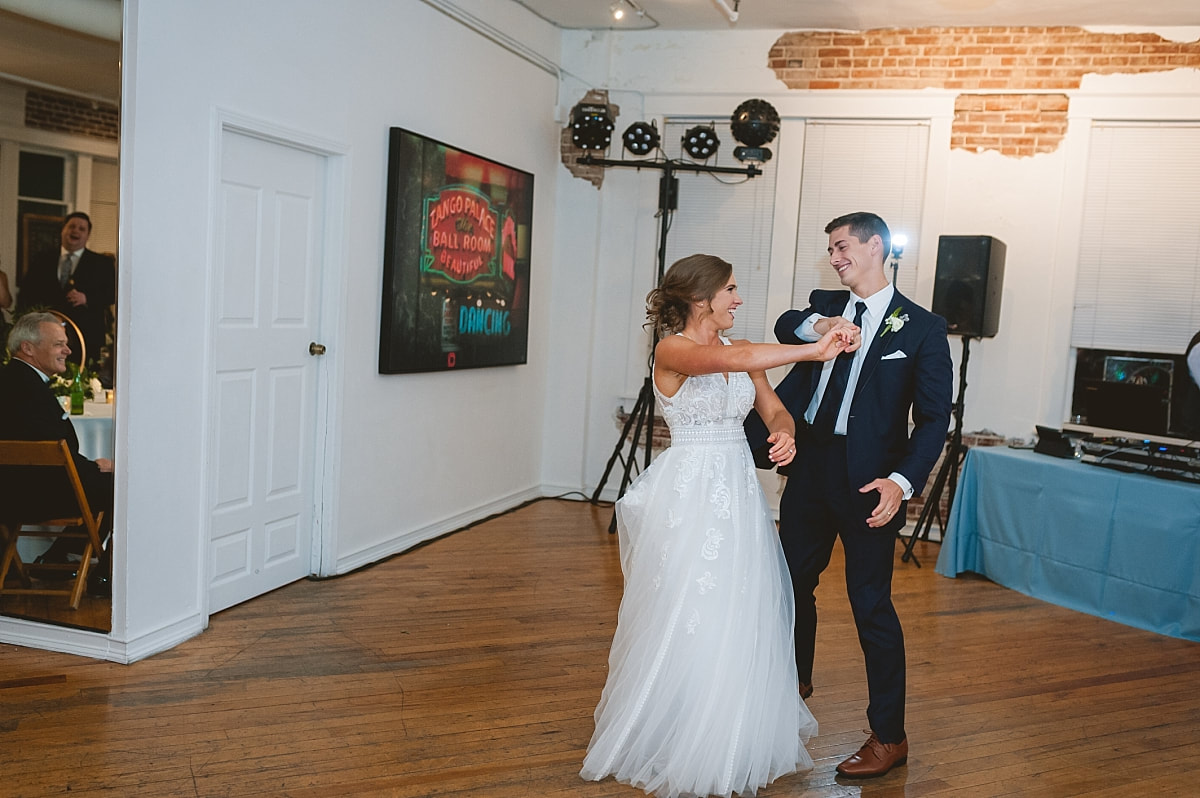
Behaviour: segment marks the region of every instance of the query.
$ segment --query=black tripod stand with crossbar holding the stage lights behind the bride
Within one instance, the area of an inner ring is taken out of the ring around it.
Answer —
[[[667,260],[667,233],[671,230],[671,215],[678,208],[679,203],[679,178],[676,176],[677,172],[695,172],[697,174],[740,174],[746,178],[755,178],[762,174],[762,169],[751,164],[745,167],[716,167],[708,166],[704,163],[690,163],[686,161],[617,161],[612,158],[596,158],[590,155],[583,155],[577,158],[578,163],[588,166],[601,166],[601,167],[631,167],[636,169],[659,169],[662,172],[662,176],[659,179],[659,254],[658,254],[658,276],[654,281],[654,286],[658,287],[662,282],[662,275],[666,272],[666,260]],[[637,458],[638,442],[641,442],[642,448],[646,451],[646,460],[642,468],[649,468],[650,456],[654,449],[654,349],[650,349],[650,356],[647,366],[646,379],[642,380],[642,388],[637,392],[637,401],[634,403],[634,409],[630,410],[629,418],[625,420],[625,426],[620,431],[620,437],[617,439],[617,445],[612,449],[612,455],[608,457],[608,464],[605,466],[604,476],[600,478],[600,484],[596,485],[596,490],[592,493],[592,503],[595,504],[600,500],[600,492],[604,491],[605,482],[608,481],[608,474],[612,473],[613,466],[617,460],[620,460],[625,464],[625,469],[620,475],[620,488],[617,491],[617,498],[625,496],[625,488],[629,487],[630,481],[632,481],[634,463]],[[634,430],[632,437],[630,437],[629,431]],[[625,444],[629,444],[629,454],[624,452]],[[612,521],[608,522],[608,532],[617,532],[617,514],[613,511]]]

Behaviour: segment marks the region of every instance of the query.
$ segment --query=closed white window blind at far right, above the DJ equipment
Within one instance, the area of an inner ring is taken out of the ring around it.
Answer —
[[[1181,354],[1200,329],[1200,126],[1092,128],[1072,346]]]

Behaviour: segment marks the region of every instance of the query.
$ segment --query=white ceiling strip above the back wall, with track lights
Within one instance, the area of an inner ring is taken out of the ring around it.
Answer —
[[[1200,25],[1198,0],[512,0],[559,28],[664,30]],[[726,10],[736,7],[737,22]],[[634,8],[642,8],[638,17]]]

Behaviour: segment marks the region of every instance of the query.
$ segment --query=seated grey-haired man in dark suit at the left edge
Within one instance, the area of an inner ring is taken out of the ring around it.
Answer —
[[[90,461],[79,454],[79,439],[70,416],[48,385],[53,374],[66,371],[71,354],[62,323],[53,313],[26,313],[8,331],[12,359],[0,368],[0,439],[66,440],[92,512],[104,511],[109,526],[113,508],[113,461]],[[41,479],[29,470],[0,475],[4,505],[30,516],[76,511],[70,486]],[[101,539],[104,529],[101,530]],[[64,540],[64,542],[77,542]],[[82,546],[79,548],[82,551]],[[52,546],[43,562],[65,562],[70,550]],[[78,552],[76,552],[78,553]],[[103,572],[107,569],[98,569]]]

